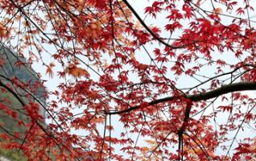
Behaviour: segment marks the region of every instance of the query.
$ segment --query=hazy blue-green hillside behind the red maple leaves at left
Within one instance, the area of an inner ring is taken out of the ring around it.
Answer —
[[[2,62],[2,63],[1,63]],[[3,63],[4,62],[4,63]],[[13,86],[10,80],[17,79],[19,82],[25,85],[34,86],[39,82],[39,76],[27,63],[27,60],[19,56],[18,53],[11,52],[6,47],[1,47],[0,49],[0,81],[5,85]],[[14,88],[15,89],[15,88]],[[2,89],[4,90],[4,88]],[[21,98],[24,102],[27,102],[26,92],[23,89],[15,89],[17,96]],[[46,99],[44,97],[45,89],[44,87],[35,90],[30,90],[32,94],[38,99],[43,105],[46,104]],[[27,114],[23,109],[21,102],[14,97],[14,95],[8,91],[0,93],[0,103],[8,106],[12,111],[17,112],[18,119],[14,119],[5,111],[0,109],[0,133],[8,133],[12,135],[19,135],[19,137],[24,137],[26,132],[26,126],[19,126],[18,120],[22,120],[24,124],[30,122],[27,118]],[[45,110],[43,108],[39,109],[40,114],[45,118]],[[1,140],[4,142],[4,140]],[[7,151],[0,148],[0,155],[11,160],[27,160],[23,156],[22,152],[18,151]]]

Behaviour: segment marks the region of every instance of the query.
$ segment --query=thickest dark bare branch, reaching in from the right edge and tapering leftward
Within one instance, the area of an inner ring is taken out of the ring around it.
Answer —
[[[184,97],[191,101],[206,101],[214,97],[221,96],[226,93],[233,93],[237,91],[246,91],[246,90],[256,90],[256,82],[239,82],[239,83],[233,83],[230,85],[223,85],[218,89],[213,89],[212,91],[206,92],[206,93],[199,93],[199,94],[192,94],[192,95],[180,95],[180,96],[172,96],[172,97],[164,97],[160,98],[155,101],[151,101],[148,103],[147,106],[156,105],[159,103],[167,102],[167,101],[173,101],[173,100],[180,100],[180,98]],[[130,107],[129,109],[124,109],[116,112],[109,112],[105,114],[125,114],[135,109],[140,109],[142,105],[136,105],[133,107]],[[145,105],[143,105],[145,107]]]

